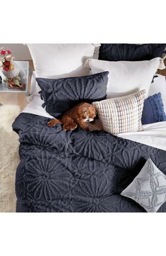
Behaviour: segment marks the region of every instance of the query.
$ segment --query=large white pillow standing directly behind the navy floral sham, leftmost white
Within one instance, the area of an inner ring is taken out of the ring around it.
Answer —
[[[77,77],[89,74],[85,60],[93,57],[95,44],[28,44],[37,77]]]

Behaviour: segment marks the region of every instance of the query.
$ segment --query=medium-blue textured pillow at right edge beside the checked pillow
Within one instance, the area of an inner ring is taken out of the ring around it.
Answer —
[[[166,121],[164,105],[162,103],[160,92],[153,96],[149,96],[148,99],[144,101],[141,121],[143,125]]]

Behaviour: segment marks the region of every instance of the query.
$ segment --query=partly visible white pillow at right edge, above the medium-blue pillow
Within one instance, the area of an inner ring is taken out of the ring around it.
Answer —
[[[158,94],[158,92],[160,92],[166,113],[166,80],[165,76],[162,76],[161,74],[157,74],[157,76],[158,77],[155,77],[153,84],[150,85],[148,96]]]

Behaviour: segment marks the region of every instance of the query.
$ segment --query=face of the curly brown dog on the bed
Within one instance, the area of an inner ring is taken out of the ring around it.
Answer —
[[[82,110],[80,111],[81,118],[85,123],[92,122],[97,114],[95,107],[91,104],[87,104],[83,106]]]

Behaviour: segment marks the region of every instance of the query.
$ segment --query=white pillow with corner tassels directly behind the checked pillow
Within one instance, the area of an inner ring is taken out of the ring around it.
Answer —
[[[133,94],[142,89],[146,90],[146,98],[153,76],[157,69],[163,65],[163,60],[156,57],[145,61],[117,61],[89,59],[85,62],[91,73],[109,71],[107,84],[107,99]]]

